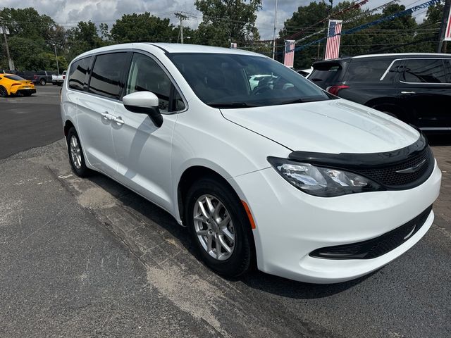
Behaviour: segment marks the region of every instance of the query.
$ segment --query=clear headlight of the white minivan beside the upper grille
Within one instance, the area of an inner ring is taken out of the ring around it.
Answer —
[[[268,157],[268,162],[290,184],[314,196],[333,197],[384,190],[376,182],[342,169],[319,167],[271,156]]]

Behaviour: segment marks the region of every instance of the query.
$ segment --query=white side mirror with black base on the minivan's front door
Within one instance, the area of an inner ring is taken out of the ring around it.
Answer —
[[[147,114],[156,127],[163,125],[163,116],[158,108],[158,97],[152,92],[135,92],[122,98],[125,109],[133,113]]]

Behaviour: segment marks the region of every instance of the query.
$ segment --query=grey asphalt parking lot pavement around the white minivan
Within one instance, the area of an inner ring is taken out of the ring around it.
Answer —
[[[70,171],[60,87],[0,99],[0,337],[449,337],[451,142],[435,224],[358,280],[225,280],[170,215],[107,177]]]

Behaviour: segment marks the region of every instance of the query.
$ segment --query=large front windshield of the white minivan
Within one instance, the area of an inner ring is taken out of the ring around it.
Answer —
[[[216,108],[273,106],[335,97],[270,58],[216,53],[169,57],[199,99]]]

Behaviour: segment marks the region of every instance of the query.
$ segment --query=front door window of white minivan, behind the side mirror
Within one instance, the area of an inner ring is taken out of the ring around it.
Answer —
[[[125,94],[148,91],[159,98],[160,111],[168,111],[171,80],[152,58],[133,54]]]

